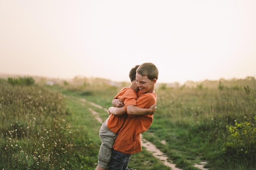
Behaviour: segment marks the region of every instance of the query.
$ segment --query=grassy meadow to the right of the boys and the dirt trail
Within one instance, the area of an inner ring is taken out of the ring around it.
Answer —
[[[149,132],[158,139],[148,133],[144,136],[165,148],[169,157],[177,162],[200,157],[219,170],[231,165],[255,167],[255,90],[170,88],[158,89],[157,96],[157,113]],[[241,130],[234,135],[230,126]],[[167,146],[160,140],[166,140]]]

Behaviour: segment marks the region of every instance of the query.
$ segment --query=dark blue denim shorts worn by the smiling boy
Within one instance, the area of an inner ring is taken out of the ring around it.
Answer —
[[[124,154],[112,149],[112,155],[110,163],[108,164],[108,170],[128,170],[130,156],[132,155]]]

